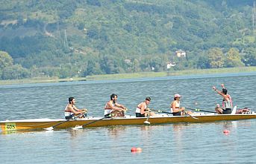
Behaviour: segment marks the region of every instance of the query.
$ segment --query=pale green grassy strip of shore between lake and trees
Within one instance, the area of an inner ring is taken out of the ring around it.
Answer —
[[[164,72],[141,72],[141,73],[119,73],[93,75],[87,77],[72,77],[66,79],[37,77],[30,79],[0,80],[0,85],[17,85],[33,83],[56,83],[56,82],[76,82],[76,81],[93,81],[93,80],[116,80],[116,79],[137,79],[146,77],[165,77],[165,76],[187,76],[200,74],[217,74],[217,73],[249,73],[256,72],[256,67],[241,68],[213,68],[200,70],[168,70]]]

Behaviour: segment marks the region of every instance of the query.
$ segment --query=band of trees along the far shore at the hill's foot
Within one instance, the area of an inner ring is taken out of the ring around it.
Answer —
[[[213,47],[198,57],[198,60],[172,55],[175,67],[169,70],[184,70],[188,68],[233,68],[243,66],[256,66],[256,49],[250,48],[241,56],[240,52],[232,47],[228,52],[223,53],[219,47]],[[137,73],[141,71],[166,71],[166,63],[169,61],[168,55],[146,56],[143,59],[126,59],[112,56],[84,56],[83,54],[72,54],[72,56],[51,56],[51,60],[65,60],[55,67],[43,66],[24,68],[22,65],[14,64],[13,58],[4,51],[0,51],[0,79],[23,79],[38,76],[48,77],[84,77],[96,74],[111,73]],[[25,62],[25,61],[24,61]],[[48,62],[46,62],[48,63]]]

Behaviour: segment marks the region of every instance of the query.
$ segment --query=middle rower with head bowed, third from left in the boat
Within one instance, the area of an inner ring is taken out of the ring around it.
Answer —
[[[151,98],[148,96],[146,97],[144,102],[140,102],[139,105],[137,105],[136,108],[136,117],[147,117],[149,116],[154,116],[154,112],[150,111],[150,109],[148,108],[148,105],[151,101]]]

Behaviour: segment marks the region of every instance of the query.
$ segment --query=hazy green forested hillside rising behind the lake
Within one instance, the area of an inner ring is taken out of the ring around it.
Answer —
[[[256,65],[255,29],[253,0],[0,1],[0,79]]]

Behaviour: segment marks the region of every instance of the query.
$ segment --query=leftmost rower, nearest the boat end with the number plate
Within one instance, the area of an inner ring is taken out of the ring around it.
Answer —
[[[69,97],[69,104],[65,108],[65,119],[72,117],[84,118],[87,117],[87,109],[78,109],[75,107],[75,98]]]

